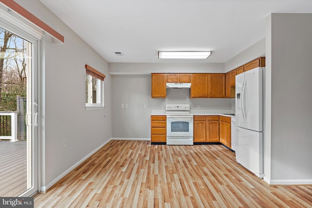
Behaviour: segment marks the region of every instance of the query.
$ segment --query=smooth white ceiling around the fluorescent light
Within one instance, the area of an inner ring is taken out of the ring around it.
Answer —
[[[40,1],[108,62],[223,63],[265,38],[270,13],[312,13],[312,0]],[[206,50],[202,60],[157,58]]]

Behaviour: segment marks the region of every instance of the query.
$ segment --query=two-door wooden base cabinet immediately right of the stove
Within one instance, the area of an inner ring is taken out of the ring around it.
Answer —
[[[194,142],[219,141],[219,116],[194,116]]]

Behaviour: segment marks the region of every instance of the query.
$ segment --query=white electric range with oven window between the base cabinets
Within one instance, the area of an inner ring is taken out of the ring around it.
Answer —
[[[193,145],[193,114],[189,104],[167,104],[167,145]]]

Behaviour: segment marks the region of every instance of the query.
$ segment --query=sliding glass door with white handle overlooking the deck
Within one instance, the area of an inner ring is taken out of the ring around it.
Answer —
[[[39,41],[0,21],[0,196],[38,191]]]

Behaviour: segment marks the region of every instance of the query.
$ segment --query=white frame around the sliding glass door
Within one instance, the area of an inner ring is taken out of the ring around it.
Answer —
[[[33,196],[37,192],[39,192],[39,188],[41,185],[41,174],[42,174],[42,144],[41,139],[39,139],[39,136],[41,137],[42,131],[42,113],[41,113],[41,105],[43,102],[41,102],[41,80],[44,80],[42,78],[42,75],[40,73],[40,69],[42,69],[42,62],[41,59],[44,58],[42,55],[42,51],[44,51],[44,44],[42,46],[41,42],[44,42],[44,33],[40,33],[40,31],[34,27],[29,26],[29,24],[18,17],[15,17],[16,14],[11,11],[5,12],[4,10],[7,9],[6,7],[0,6],[0,26],[3,29],[6,29],[15,35],[19,36],[20,38],[24,38],[25,40],[32,43],[32,77],[31,77],[31,84],[32,84],[32,96],[31,105],[32,105],[32,116],[31,116],[31,123],[32,123],[32,158],[33,158],[33,165],[32,165],[32,188],[27,189],[25,192],[21,193],[19,196],[28,197]],[[14,13],[14,14],[13,14]],[[39,123],[39,126],[35,125],[35,113],[34,113],[34,103],[39,104],[36,106],[37,112],[39,113],[39,117],[37,122]],[[28,177],[28,176],[27,176]],[[28,182],[27,182],[28,183]]]

